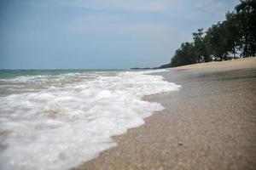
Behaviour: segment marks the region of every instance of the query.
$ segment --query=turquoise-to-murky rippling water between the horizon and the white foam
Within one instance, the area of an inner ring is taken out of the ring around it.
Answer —
[[[64,88],[96,77],[114,76],[124,70],[0,70],[0,96]]]

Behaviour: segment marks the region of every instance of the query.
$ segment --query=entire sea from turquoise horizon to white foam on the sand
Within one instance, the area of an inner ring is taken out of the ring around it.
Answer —
[[[160,70],[165,71],[165,70]],[[164,108],[180,86],[154,71],[0,71],[0,169],[68,169]]]

